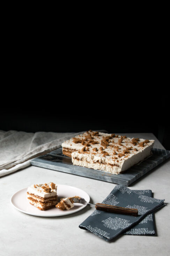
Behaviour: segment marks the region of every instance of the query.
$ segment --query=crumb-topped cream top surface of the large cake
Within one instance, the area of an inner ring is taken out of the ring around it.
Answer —
[[[94,158],[126,160],[153,147],[154,140],[88,131],[62,143],[62,147],[77,150],[80,154],[93,154]]]

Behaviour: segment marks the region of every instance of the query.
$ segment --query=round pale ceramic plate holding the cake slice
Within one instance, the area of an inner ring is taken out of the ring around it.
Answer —
[[[80,196],[80,197],[83,197],[87,202],[90,201],[90,197],[85,191],[79,188],[75,188],[67,185],[57,184],[57,195],[59,199],[64,197]],[[41,217],[63,216],[63,215],[75,213],[76,211],[80,211],[84,207],[86,207],[83,204],[74,203],[75,206],[70,210],[63,211],[54,207],[52,209],[42,211],[36,208],[35,206],[32,206],[29,203],[29,200],[27,199],[27,188],[23,188],[17,191],[11,197],[10,201],[17,210],[22,211],[23,213],[26,213],[26,214],[41,216]]]

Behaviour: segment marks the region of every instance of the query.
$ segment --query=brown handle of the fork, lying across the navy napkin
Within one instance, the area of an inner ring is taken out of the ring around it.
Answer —
[[[99,211],[108,211],[110,213],[120,213],[120,214],[127,214],[132,216],[138,216],[138,209],[134,208],[124,208],[120,206],[111,206],[109,204],[103,203],[96,203],[96,210]]]

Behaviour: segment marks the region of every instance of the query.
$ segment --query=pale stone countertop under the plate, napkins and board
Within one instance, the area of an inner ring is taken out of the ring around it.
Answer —
[[[122,134],[129,137],[155,139],[155,148],[164,147],[151,133]],[[167,206],[155,212],[157,236],[120,235],[112,242],[79,228],[94,208],[59,217],[37,217],[22,213],[10,203],[18,190],[39,181],[52,181],[80,188],[90,202],[102,202],[116,184],[91,178],[29,166],[0,178],[0,255],[1,256],[113,256],[170,255],[170,160],[163,162],[129,188],[151,189],[154,197],[165,199]]]

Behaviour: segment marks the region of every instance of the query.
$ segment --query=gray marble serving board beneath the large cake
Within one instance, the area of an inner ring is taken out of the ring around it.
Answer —
[[[43,167],[51,170],[62,171],[74,175],[93,178],[115,184],[123,184],[129,186],[134,181],[138,180],[148,171],[156,167],[158,164],[167,160],[170,157],[170,151],[164,149],[152,149],[153,155],[148,159],[128,169],[122,174],[111,174],[105,171],[94,170],[87,167],[73,165],[71,157],[62,154],[62,147],[50,153],[37,157],[31,161],[31,164],[38,167]]]

